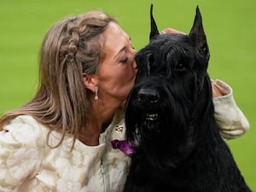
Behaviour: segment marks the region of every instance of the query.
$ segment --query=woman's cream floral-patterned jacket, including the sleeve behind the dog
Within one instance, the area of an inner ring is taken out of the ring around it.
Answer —
[[[240,137],[247,131],[246,117],[237,108],[227,84],[216,84],[226,96],[214,99],[215,118],[225,139]],[[49,129],[31,116],[18,116],[0,131],[1,192],[121,192],[128,174],[130,159],[111,141],[125,139],[124,119],[115,115],[99,139],[90,147],[66,137],[61,146],[49,148]],[[49,144],[54,146],[60,133],[53,132]]]

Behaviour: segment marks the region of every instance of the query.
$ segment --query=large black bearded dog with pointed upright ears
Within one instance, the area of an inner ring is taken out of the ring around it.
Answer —
[[[150,44],[136,55],[125,113],[136,143],[125,192],[247,192],[213,117],[209,50],[198,7],[189,35],[160,35],[151,7]]]

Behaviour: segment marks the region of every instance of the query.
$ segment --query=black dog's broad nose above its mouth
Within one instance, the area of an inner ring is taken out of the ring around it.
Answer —
[[[138,102],[154,103],[154,102],[158,102],[159,98],[160,98],[160,94],[158,90],[142,88],[137,93]]]

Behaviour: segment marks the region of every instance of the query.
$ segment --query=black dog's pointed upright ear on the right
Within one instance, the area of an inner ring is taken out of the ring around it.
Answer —
[[[194,25],[189,32],[189,38],[192,40],[199,53],[203,56],[207,56],[207,59],[209,59],[207,37],[202,26],[201,13],[198,6],[196,7]]]

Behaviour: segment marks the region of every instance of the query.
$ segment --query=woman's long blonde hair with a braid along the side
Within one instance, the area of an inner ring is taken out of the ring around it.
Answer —
[[[83,73],[96,73],[102,60],[101,34],[109,15],[94,11],[57,22],[47,32],[39,61],[39,88],[32,100],[3,115],[0,129],[18,115],[31,115],[51,131],[61,131],[75,140],[90,114],[90,102],[83,84]],[[49,138],[49,135],[48,135]]]

